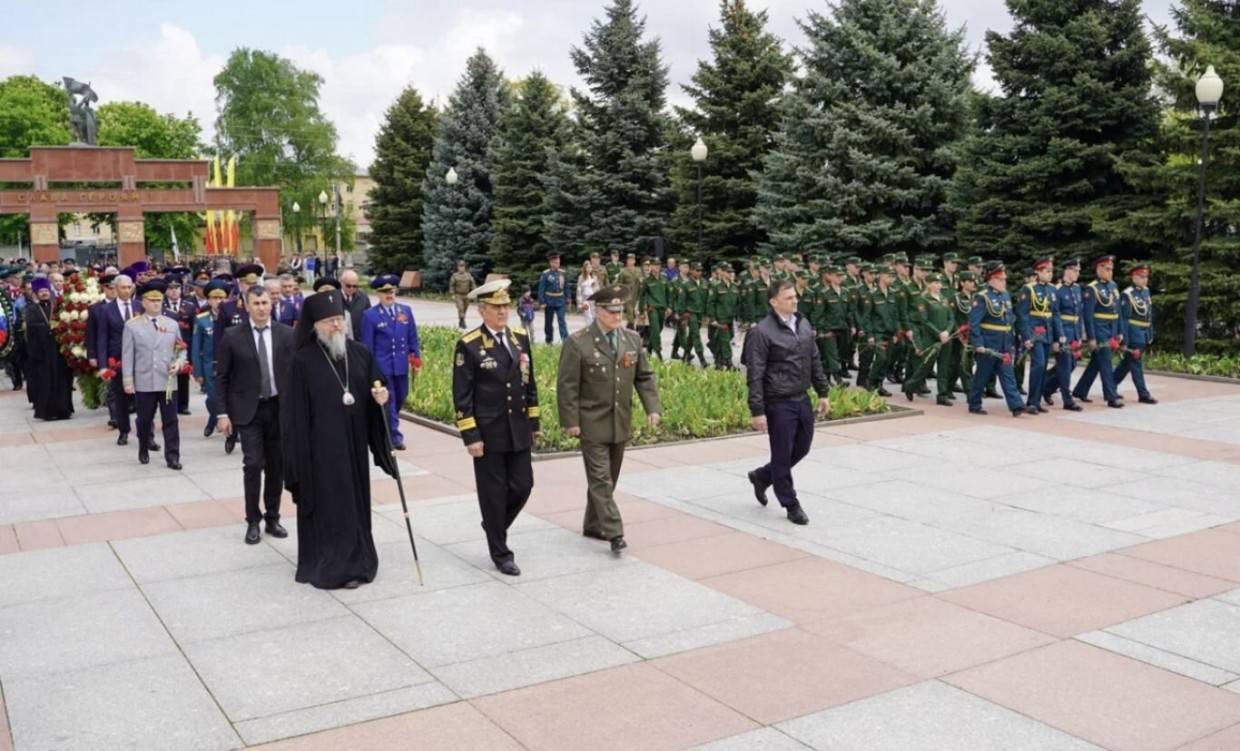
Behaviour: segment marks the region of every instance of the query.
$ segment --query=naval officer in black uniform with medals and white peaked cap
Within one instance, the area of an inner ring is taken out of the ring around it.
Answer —
[[[508,326],[510,280],[475,288],[482,325],[456,341],[453,403],[456,429],[474,457],[482,529],[495,566],[508,576],[521,569],[508,549],[508,528],[534,487],[531,450],[538,440],[538,387],[529,333]]]

